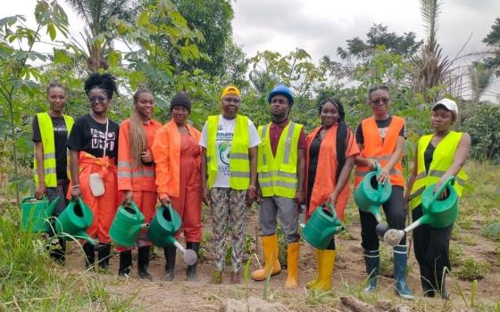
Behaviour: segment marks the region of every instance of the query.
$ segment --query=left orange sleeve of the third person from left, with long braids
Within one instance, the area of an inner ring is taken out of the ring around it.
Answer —
[[[130,157],[130,144],[129,144],[129,119],[123,120],[120,125],[120,132],[118,135],[118,190],[131,191],[132,190],[132,166]]]

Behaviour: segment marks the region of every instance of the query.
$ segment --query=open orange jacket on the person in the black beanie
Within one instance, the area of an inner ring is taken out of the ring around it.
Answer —
[[[189,134],[199,141],[201,133],[187,124],[186,127]],[[158,130],[151,150],[156,163],[156,186],[158,186],[157,192],[160,198],[162,198],[162,193],[179,197],[180,134],[173,119]],[[201,153],[196,158],[196,162],[199,170]]]

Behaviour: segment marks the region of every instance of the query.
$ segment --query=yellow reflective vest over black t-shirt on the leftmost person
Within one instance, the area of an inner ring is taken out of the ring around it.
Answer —
[[[68,136],[70,135],[71,128],[73,127],[74,120],[71,116],[63,115],[64,123]],[[38,128],[42,137],[42,146],[44,150],[44,182],[46,187],[57,186],[56,162],[55,162],[55,142],[54,142],[54,125],[48,112],[37,113]],[[35,185],[38,185],[38,171],[37,171],[37,149],[35,148],[35,158],[33,160],[33,168]],[[70,153],[66,152],[66,172],[68,179],[71,178],[70,173]]]

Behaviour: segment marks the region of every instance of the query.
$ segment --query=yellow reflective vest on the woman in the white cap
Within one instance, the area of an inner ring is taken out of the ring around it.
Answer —
[[[462,140],[462,132],[450,131],[439,144],[437,144],[434,153],[432,154],[432,162],[429,166],[429,172],[425,172],[424,153],[432,140],[433,135],[423,135],[419,140],[417,155],[417,176],[413,182],[412,192],[410,193],[410,208],[415,209],[421,204],[421,194],[429,185],[433,185],[439,181],[446,173],[446,170],[453,165],[454,154]],[[467,174],[463,169],[460,169],[456,176],[454,189],[458,196],[462,196],[463,186],[467,181]]]

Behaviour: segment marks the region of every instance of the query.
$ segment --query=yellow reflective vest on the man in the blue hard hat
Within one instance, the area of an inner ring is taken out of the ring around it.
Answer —
[[[272,155],[270,128],[271,124],[258,129],[262,143],[259,145],[258,177],[262,196],[296,196],[297,144],[302,125],[290,122],[279,137],[276,156]]]

